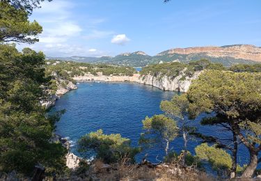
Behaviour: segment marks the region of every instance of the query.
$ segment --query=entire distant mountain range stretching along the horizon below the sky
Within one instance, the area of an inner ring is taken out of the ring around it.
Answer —
[[[148,64],[179,61],[187,63],[206,58],[213,63],[222,63],[230,66],[238,63],[254,64],[261,63],[261,47],[254,45],[226,45],[222,47],[188,47],[168,49],[156,56],[149,56],[144,52],[119,54],[118,56],[102,56],[100,58],[72,56],[70,61],[88,63],[107,63],[112,65],[129,65],[143,67]],[[61,59],[61,58],[57,58]],[[62,58],[66,60],[66,58]]]

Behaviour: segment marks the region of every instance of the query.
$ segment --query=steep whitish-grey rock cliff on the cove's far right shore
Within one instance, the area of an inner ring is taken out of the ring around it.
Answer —
[[[184,77],[184,74],[180,74],[175,78],[161,76],[161,74],[158,74],[157,76],[148,74],[140,77],[138,83],[155,86],[164,91],[179,91],[181,93],[186,93],[189,90],[191,81],[197,79],[199,74],[200,72],[195,72],[193,77]]]

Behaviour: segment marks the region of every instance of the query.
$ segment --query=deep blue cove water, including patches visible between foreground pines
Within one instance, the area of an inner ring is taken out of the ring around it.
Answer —
[[[52,111],[66,109],[61,120],[56,123],[56,133],[68,137],[72,141],[72,152],[77,152],[77,140],[84,134],[103,129],[105,134],[119,133],[132,140],[136,146],[142,132],[141,120],[145,116],[162,113],[159,109],[161,100],[170,100],[176,93],[161,91],[152,86],[132,83],[81,83],[78,89],[70,91],[56,101]],[[203,127],[199,125],[202,115],[193,121],[198,131],[207,135],[219,135],[224,139],[230,138],[230,133],[219,127]],[[171,143],[170,148],[176,152],[182,150],[182,139]],[[193,154],[198,141],[189,142],[189,150]],[[148,159],[157,162],[164,156],[164,149],[159,145],[137,155],[136,160],[148,153]],[[246,163],[248,154],[245,149],[239,152],[239,163]]]

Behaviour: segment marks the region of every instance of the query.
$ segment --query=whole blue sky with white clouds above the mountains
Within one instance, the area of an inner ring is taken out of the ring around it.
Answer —
[[[261,47],[261,0],[53,0],[29,17],[46,56],[151,56],[176,47]]]

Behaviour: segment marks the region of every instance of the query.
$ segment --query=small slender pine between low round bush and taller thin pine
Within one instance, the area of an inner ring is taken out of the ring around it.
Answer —
[[[168,144],[177,136],[177,124],[175,120],[168,118],[162,114],[146,117],[142,121],[145,133],[141,134],[140,144],[166,143],[165,152],[168,155]]]

